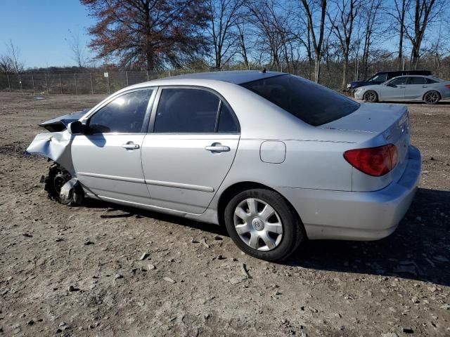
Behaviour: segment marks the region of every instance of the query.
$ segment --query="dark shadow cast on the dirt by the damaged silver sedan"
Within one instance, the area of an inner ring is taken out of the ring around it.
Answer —
[[[89,200],[86,206],[108,208],[102,218],[154,218],[228,236],[224,227],[186,218],[96,200]],[[449,224],[450,192],[420,188],[406,217],[390,237],[375,242],[309,241],[280,264],[450,286]]]

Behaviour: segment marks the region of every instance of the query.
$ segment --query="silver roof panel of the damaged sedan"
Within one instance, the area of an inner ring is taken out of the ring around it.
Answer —
[[[243,84],[258,79],[267,79],[285,75],[284,72],[264,72],[259,70],[231,70],[226,72],[199,72],[195,74],[183,74],[172,77],[165,77],[164,80],[178,79],[212,79],[216,81],[225,81],[233,84]]]

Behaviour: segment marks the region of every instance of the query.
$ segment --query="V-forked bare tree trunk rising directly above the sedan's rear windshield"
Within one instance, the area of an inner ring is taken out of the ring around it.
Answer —
[[[319,82],[321,58],[323,56],[323,33],[325,32],[327,0],[300,0],[307,16],[309,35],[314,49],[314,81]],[[318,8],[319,7],[319,8]],[[316,23],[316,11],[319,12],[319,26]]]

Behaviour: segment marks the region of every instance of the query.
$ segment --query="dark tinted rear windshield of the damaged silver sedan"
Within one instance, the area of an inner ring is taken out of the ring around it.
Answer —
[[[333,90],[293,75],[280,75],[241,84],[312,126],[351,114],[359,103]]]

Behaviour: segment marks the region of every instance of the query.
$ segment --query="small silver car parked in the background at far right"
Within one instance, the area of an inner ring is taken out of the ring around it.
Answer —
[[[399,76],[374,86],[361,86],[354,98],[375,103],[379,100],[422,101],[436,104],[450,99],[450,81],[432,76]]]

